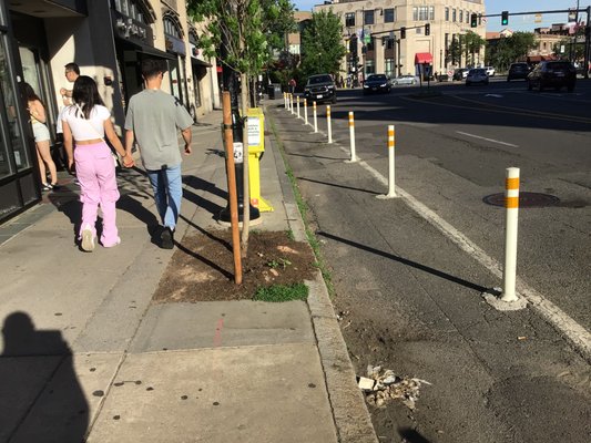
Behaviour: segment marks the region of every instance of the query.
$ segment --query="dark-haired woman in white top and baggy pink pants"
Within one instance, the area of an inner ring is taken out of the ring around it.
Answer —
[[[81,75],[74,82],[73,104],[62,113],[63,141],[68,154],[68,166],[75,159],[75,173],[80,182],[82,202],[82,223],[79,239],[82,250],[91,253],[96,245],[96,216],[99,205],[103,216],[101,244],[105,248],[119,245],[115,225],[115,202],[119,189],[115,165],[106,138],[123,157],[125,167],[133,166],[111,122],[111,113],[104,106],[96,83],[90,76]],[[73,148],[75,144],[75,150]]]

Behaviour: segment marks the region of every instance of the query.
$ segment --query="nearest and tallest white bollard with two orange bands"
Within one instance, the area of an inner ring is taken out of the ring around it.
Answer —
[[[517,301],[517,220],[519,213],[519,167],[508,167],[505,183],[505,268],[502,301]]]

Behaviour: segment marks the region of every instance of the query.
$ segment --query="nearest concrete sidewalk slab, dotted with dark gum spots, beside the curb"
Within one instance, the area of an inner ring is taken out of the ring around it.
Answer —
[[[337,442],[316,348],[129,356],[88,442],[188,441]]]

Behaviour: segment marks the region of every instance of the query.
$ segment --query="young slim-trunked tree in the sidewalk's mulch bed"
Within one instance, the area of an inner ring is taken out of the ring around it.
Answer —
[[[263,31],[264,0],[187,0],[187,14],[196,22],[205,22],[206,32],[200,37],[198,45],[208,56],[215,56],[224,69],[241,76],[243,163],[243,229],[241,251],[243,258],[248,250],[251,220],[251,193],[248,189],[248,110],[249,79],[256,76],[268,60],[267,35]],[[234,82],[231,82],[234,83]],[[231,93],[233,86],[231,86]],[[233,106],[237,106],[234,97]]]

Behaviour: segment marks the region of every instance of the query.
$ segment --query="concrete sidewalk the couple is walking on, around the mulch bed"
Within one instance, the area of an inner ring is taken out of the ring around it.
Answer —
[[[177,241],[222,228],[221,121],[215,111],[194,126]],[[256,229],[304,240],[265,143],[261,188],[275,210]],[[146,177],[124,171],[120,189],[113,249],[74,246],[73,184],[0,226],[0,442],[377,441],[319,272],[307,302],[153,305],[174,250],[151,243]]]

